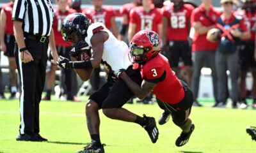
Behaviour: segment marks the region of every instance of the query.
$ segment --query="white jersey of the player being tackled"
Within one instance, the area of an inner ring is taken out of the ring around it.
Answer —
[[[129,48],[124,41],[118,41],[115,36],[109,31],[104,24],[96,22],[88,27],[86,43],[92,47],[90,42],[94,33],[105,31],[109,34],[108,40],[104,42],[104,50],[102,55],[102,64],[109,71],[118,69],[127,69],[132,62],[129,60]]]

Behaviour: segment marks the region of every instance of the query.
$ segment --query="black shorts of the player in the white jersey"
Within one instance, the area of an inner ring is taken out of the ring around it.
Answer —
[[[126,69],[125,73],[136,84],[141,85],[142,78],[138,69],[132,69],[132,66]],[[99,91],[94,92],[89,99],[92,99],[100,108],[121,108],[134,94],[121,79],[116,80],[115,84],[105,83]]]

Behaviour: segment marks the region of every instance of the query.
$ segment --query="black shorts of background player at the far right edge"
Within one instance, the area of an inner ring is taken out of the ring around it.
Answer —
[[[250,68],[256,68],[254,59],[254,41],[243,41],[239,43],[239,66],[241,71],[248,71]]]

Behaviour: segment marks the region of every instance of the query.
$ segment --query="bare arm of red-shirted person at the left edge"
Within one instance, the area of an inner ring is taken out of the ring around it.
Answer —
[[[0,16],[0,42],[1,42],[1,50],[3,52],[6,51],[6,45],[4,43],[4,34],[5,34],[5,26],[6,26],[6,13],[4,10],[1,10],[1,16]]]

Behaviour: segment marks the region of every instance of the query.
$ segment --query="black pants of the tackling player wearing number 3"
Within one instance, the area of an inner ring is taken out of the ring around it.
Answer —
[[[157,103],[163,110],[167,110],[172,114],[172,120],[177,126],[182,126],[184,122],[188,119],[191,108],[193,105],[193,93],[189,89],[188,85],[180,80],[183,89],[185,91],[185,96],[179,103],[175,105],[171,105],[168,103],[164,103],[157,99]]]

